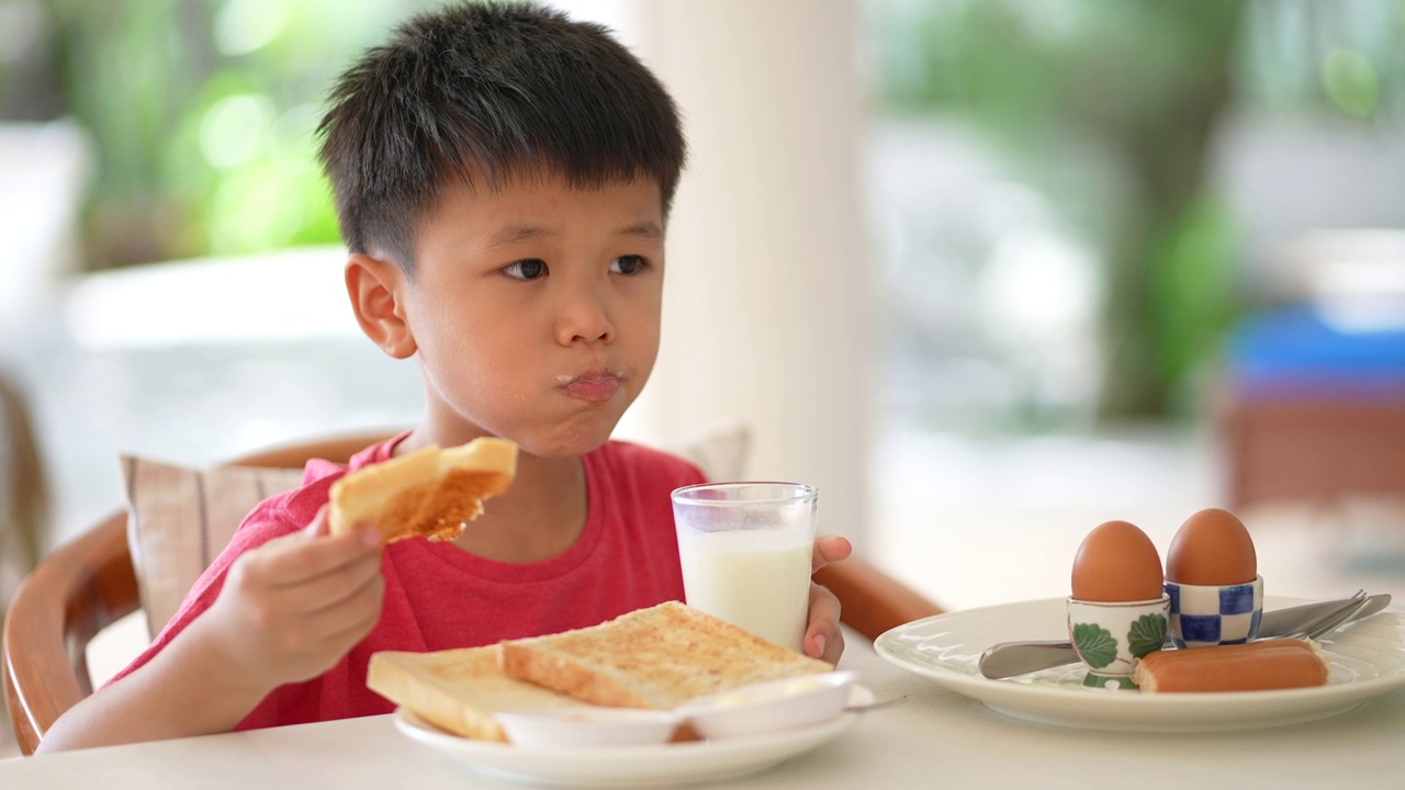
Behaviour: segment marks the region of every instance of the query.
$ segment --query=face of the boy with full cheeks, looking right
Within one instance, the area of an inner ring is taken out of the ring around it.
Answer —
[[[440,441],[488,433],[563,457],[610,437],[659,350],[658,184],[454,183],[414,254],[393,291]]]

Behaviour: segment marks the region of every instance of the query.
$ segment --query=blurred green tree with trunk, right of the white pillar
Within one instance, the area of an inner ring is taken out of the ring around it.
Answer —
[[[1405,0],[875,6],[882,112],[975,128],[1099,249],[1104,420],[1189,410],[1242,309],[1234,218],[1204,184],[1225,115],[1405,121]]]

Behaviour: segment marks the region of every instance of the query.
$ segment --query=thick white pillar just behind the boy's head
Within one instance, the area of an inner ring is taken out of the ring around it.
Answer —
[[[638,52],[683,110],[663,347],[631,426],[754,429],[749,477],[821,489],[821,531],[867,522],[871,305],[853,0],[636,6]]]

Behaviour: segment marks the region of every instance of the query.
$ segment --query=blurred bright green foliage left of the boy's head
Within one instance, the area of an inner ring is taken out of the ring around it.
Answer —
[[[30,0],[38,62],[24,72],[45,75],[59,101],[8,90],[0,118],[65,115],[90,134],[91,268],[336,243],[312,134],[323,96],[429,4]]]

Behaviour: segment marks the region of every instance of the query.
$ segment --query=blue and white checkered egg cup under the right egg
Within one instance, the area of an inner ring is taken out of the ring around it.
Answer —
[[[1170,641],[1177,648],[1248,642],[1263,620],[1263,576],[1242,585],[1166,582],[1170,596]]]

